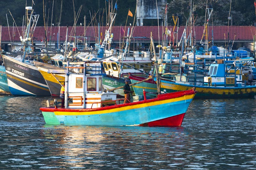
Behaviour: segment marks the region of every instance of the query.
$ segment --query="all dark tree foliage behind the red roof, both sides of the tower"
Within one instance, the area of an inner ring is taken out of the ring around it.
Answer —
[[[139,0],[137,0],[139,1]],[[7,26],[6,14],[8,16],[9,26],[13,26],[13,19],[8,11],[10,10],[17,26],[22,26],[23,16],[25,15],[25,7],[33,6],[34,12],[40,14],[38,20],[38,26],[44,26],[43,19],[43,0],[1,0],[0,6],[0,24],[2,26]],[[110,2],[110,3],[109,3]],[[136,0],[62,0],[62,16],[60,21],[60,26],[73,26],[74,24],[74,12],[75,16],[78,16],[76,25],[79,26],[80,23],[84,25],[84,16],[86,16],[86,25],[96,26],[100,22],[101,26],[106,25],[108,22],[109,9],[113,11],[115,2],[117,2],[118,9],[115,11],[117,13],[116,20],[114,25],[124,26],[129,23],[133,23],[133,18],[128,17],[128,10],[133,13],[133,16],[136,16]],[[185,25],[186,20],[189,18],[190,14],[190,5],[192,5],[192,11],[196,11],[198,16],[195,22],[195,25],[202,26],[205,22],[205,9],[208,5],[212,5],[213,13],[210,20],[210,25],[236,25],[236,26],[246,26],[254,25],[255,23],[255,8],[253,0],[232,0],[231,1],[231,10],[230,10],[230,0],[167,0],[168,3],[168,25],[173,25],[172,14],[177,14],[182,16],[182,23],[180,25]],[[81,13],[79,14],[79,8],[82,5]],[[110,6],[109,6],[110,5]],[[60,6],[61,0],[44,0],[45,6],[45,22],[46,25],[51,25],[51,20],[53,21],[54,26],[58,25],[59,16],[60,16]],[[53,16],[52,16],[53,9]],[[161,13],[164,16],[165,4],[162,5],[163,12]],[[230,14],[229,14],[230,10]],[[93,16],[96,16],[93,18]],[[228,16],[232,17],[231,20],[228,20]],[[93,18],[93,19],[92,19]],[[145,24],[144,24],[145,25]]]

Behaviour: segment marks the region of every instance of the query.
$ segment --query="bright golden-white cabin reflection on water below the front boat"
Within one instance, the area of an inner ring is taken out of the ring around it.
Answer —
[[[102,128],[95,126],[54,126],[45,124],[41,133],[46,139],[44,145],[52,145],[53,150],[45,150],[46,155],[55,155],[56,165],[63,167],[84,168],[85,164],[93,164],[95,157],[103,156],[99,151],[108,141],[102,134]],[[103,128],[104,129],[104,128]],[[56,154],[56,152],[58,154]],[[48,157],[46,156],[46,157]],[[90,161],[86,161],[86,160]]]

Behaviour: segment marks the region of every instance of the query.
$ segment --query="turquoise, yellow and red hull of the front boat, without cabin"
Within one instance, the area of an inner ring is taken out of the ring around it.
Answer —
[[[46,108],[40,110],[46,124],[109,126],[181,126],[196,91],[158,95],[134,103],[93,109]]]

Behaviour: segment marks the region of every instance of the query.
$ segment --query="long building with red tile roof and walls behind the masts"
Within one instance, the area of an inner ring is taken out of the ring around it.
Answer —
[[[129,26],[131,31],[131,26]],[[177,33],[177,40],[181,39],[183,30],[185,26],[180,26]],[[104,33],[107,30],[107,27],[100,27],[100,32]],[[122,29],[125,31],[123,33]],[[128,27],[121,27],[114,26],[111,30],[111,33],[114,34],[113,43],[119,43],[120,37],[127,35]],[[173,27],[169,26],[169,30],[173,31]],[[51,41],[52,43],[57,43],[57,34],[58,34],[58,27],[48,27],[47,28],[47,39],[48,43]],[[60,43],[63,44],[66,39],[66,30],[67,27],[60,27]],[[200,43],[200,40],[203,35],[203,26],[195,26],[193,28],[193,37],[195,38],[197,43]],[[136,43],[150,43],[150,35],[152,32],[152,36],[155,43],[158,41],[162,42],[162,35],[165,32],[165,28],[157,26],[136,26],[133,28],[133,37],[137,37],[136,39],[131,40],[131,42],[136,41]],[[175,27],[174,32],[177,31],[177,27]],[[36,27],[33,33],[33,43],[40,44],[42,41],[45,40],[45,29],[44,27]],[[84,34],[85,33],[85,34]],[[240,46],[247,46],[249,48],[248,43],[252,44],[254,35],[255,35],[255,27],[254,26],[208,26],[208,41],[211,41],[213,33],[213,41],[214,43],[225,43],[228,40],[234,43],[240,43]],[[121,35],[122,34],[122,35]],[[188,34],[188,33],[187,33]],[[68,27],[68,41],[71,43],[73,39],[71,36],[84,36],[87,37],[87,42],[90,46],[94,46],[96,41],[98,41],[98,27],[83,27],[77,26],[75,29],[72,27]],[[2,36],[1,36],[1,43],[2,48],[6,44],[10,43],[20,43],[20,36],[22,36],[22,27],[2,27]],[[84,41],[84,38],[80,38]],[[168,40],[170,37],[168,37]],[[6,46],[5,46],[6,47]]]

